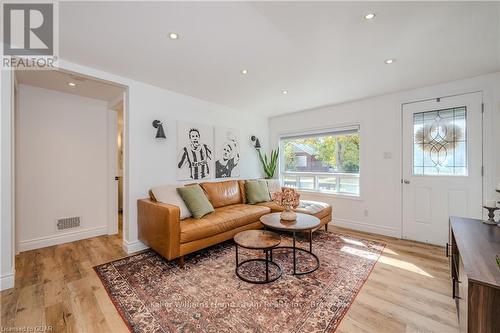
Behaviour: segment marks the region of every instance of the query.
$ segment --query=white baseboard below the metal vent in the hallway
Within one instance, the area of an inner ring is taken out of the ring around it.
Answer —
[[[96,228],[80,229],[72,232],[65,232],[63,234],[56,234],[47,237],[28,239],[19,242],[19,252],[36,250],[47,246],[74,242],[85,238],[106,235],[107,233],[108,233],[108,226],[104,225]]]

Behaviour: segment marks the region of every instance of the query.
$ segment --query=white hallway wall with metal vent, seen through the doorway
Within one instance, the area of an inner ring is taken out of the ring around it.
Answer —
[[[19,101],[19,251],[107,233],[107,102],[27,85]],[[57,231],[57,219],[73,216],[79,228]]]

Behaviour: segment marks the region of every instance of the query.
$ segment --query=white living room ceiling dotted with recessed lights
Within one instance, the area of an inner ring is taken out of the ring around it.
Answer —
[[[60,53],[272,116],[498,71],[499,8],[495,2],[61,2]],[[368,12],[377,17],[364,20]],[[178,40],[168,38],[172,31]],[[386,65],[387,58],[397,61]]]

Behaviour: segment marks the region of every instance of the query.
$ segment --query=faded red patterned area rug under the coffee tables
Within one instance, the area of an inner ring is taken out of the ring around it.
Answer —
[[[282,244],[289,243],[282,235]],[[333,332],[383,249],[381,243],[318,231],[318,270],[292,275],[291,251],[278,249],[273,255],[283,275],[260,285],[236,276],[232,242],[187,256],[184,269],[151,250],[94,269],[132,332]],[[239,256],[241,261],[263,253],[240,249]],[[310,255],[298,255],[298,270],[310,265]],[[259,264],[241,270],[257,278],[262,272]]]

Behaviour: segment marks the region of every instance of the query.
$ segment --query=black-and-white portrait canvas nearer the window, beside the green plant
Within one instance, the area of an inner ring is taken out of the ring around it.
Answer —
[[[215,127],[215,178],[240,176],[240,133]]]

